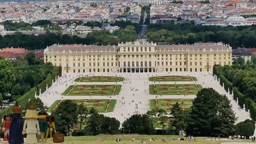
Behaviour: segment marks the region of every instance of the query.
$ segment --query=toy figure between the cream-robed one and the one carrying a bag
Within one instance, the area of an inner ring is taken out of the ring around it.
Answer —
[[[38,113],[38,119],[39,119],[38,123],[39,123],[39,127],[40,127],[40,132],[41,132],[41,134],[38,135],[38,137],[37,137],[38,143],[40,142],[40,140],[41,140],[41,143],[44,143],[45,131],[47,130],[47,128],[50,127],[50,125],[46,122],[46,116],[47,116],[47,113],[44,111],[40,111]],[[50,131],[52,131],[52,129]]]

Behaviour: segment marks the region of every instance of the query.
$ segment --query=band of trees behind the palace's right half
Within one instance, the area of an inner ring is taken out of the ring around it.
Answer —
[[[150,24],[148,40],[170,44],[223,42],[231,47],[255,47],[256,26],[200,26],[193,24]]]

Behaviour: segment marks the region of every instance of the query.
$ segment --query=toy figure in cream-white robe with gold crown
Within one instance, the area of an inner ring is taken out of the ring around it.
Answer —
[[[22,134],[27,134],[26,143],[37,143],[36,134],[40,135],[40,127],[37,121],[36,103],[28,103],[25,118]]]

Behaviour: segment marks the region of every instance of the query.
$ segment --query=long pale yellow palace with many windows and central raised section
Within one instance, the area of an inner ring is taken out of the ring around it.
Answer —
[[[157,45],[127,42],[113,46],[57,45],[44,50],[44,61],[62,72],[212,72],[232,65],[232,47],[219,43]]]

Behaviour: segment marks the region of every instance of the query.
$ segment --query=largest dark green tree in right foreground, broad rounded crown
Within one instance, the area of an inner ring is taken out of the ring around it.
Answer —
[[[212,88],[204,88],[193,101],[186,133],[193,136],[228,136],[234,134],[235,120],[227,97]]]

